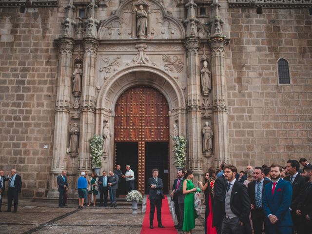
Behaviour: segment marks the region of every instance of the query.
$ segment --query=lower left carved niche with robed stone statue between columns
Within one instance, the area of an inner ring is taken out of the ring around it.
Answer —
[[[79,152],[79,132],[80,132],[80,120],[78,118],[72,117],[69,123],[69,144],[68,148],[66,150],[66,153],[71,157],[75,158],[78,156]],[[70,162],[70,167],[74,166],[72,164],[75,164],[74,161]]]

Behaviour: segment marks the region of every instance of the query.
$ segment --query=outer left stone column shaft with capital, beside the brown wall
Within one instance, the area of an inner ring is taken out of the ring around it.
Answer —
[[[59,196],[57,176],[66,169],[74,39],[61,38],[56,40],[56,43],[59,46],[59,72],[55,109],[54,146],[48,197]]]

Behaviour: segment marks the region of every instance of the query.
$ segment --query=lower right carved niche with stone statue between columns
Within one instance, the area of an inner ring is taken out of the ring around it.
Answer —
[[[214,150],[214,131],[211,124],[211,117],[202,118],[202,156],[213,156]]]

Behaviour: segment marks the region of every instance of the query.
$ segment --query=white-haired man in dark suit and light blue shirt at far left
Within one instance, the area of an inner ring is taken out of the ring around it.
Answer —
[[[11,212],[12,201],[14,200],[14,210],[13,212],[17,212],[18,210],[18,202],[19,202],[19,193],[21,192],[21,177],[16,174],[16,170],[11,170],[11,177],[8,182],[8,212]]]

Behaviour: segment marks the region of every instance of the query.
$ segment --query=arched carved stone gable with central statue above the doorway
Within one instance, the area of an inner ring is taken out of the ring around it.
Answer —
[[[184,39],[185,29],[161,1],[128,0],[120,3],[112,16],[101,21],[98,35],[99,39],[110,40]]]

